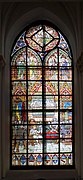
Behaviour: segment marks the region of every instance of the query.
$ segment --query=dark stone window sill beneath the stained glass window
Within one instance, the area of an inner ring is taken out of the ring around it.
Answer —
[[[7,180],[77,180],[76,169],[67,170],[9,170]]]

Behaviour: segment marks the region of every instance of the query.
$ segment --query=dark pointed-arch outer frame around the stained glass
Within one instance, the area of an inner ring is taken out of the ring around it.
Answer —
[[[19,34],[18,36],[16,37],[14,43],[13,43],[13,46],[12,46],[12,49],[11,49],[11,52],[13,51],[13,47],[15,45],[15,43],[17,42],[18,38],[20,37],[20,35],[26,30],[30,29],[31,27],[33,26],[36,26],[36,25],[39,25],[40,24],[45,24],[45,25],[49,25],[50,27],[53,27],[55,30],[59,31],[64,39],[67,41],[68,45],[69,45],[69,49],[70,49],[70,52],[71,52],[71,57],[72,57],[72,139],[73,139],[73,142],[72,142],[72,152],[73,153],[73,165],[60,165],[60,166],[34,166],[34,169],[73,169],[75,168],[75,136],[74,136],[74,64],[73,64],[73,54],[72,54],[72,50],[71,50],[71,47],[70,47],[70,43],[67,39],[67,37],[61,32],[61,30],[56,27],[53,23],[47,21],[47,20],[41,20],[41,21],[35,21],[34,23],[31,23],[30,25],[26,26]],[[27,46],[26,46],[26,49],[27,49]],[[55,49],[55,48],[54,48]],[[19,50],[18,50],[19,51]],[[16,51],[17,52],[17,51]],[[27,53],[27,50],[26,50],[26,53]],[[12,59],[12,57],[10,56],[10,59]],[[11,61],[10,61],[10,90],[11,90]],[[59,66],[58,66],[59,67]],[[26,80],[25,80],[26,81]],[[59,79],[57,80],[59,81]],[[11,103],[11,97],[12,97],[12,94],[10,92],[10,103]],[[10,108],[11,108],[11,105],[10,105]],[[60,110],[60,109],[59,109]],[[12,111],[12,110],[11,110]],[[10,113],[10,117],[12,117],[11,115],[12,113]],[[33,169],[33,167],[29,167],[26,165],[25,166],[12,166],[12,131],[11,131],[11,127],[12,127],[12,122],[11,122],[11,118],[10,118],[10,169]],[[27,138],[28,140],[28,138]],[[59,152],[60,153],[60,152]],[[64,152],[63,152],[64,153]],[[28,154],[27,154],[28,155]]]

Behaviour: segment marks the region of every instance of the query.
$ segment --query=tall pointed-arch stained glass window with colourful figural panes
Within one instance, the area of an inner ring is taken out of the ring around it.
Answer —
[[[26,27],[11,52],[11,168],[74,166],[73,60],[46,21]]]

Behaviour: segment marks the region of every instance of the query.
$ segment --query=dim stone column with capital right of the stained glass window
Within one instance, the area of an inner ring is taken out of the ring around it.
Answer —
[[[79,156],[80,158],[80,179],[83,180],[83,52],[81,53],[79,59],[77,60],[77,70],[78,70],[78,126],[79,126],[79,134],[78,134],[78,139],[79,139]]]

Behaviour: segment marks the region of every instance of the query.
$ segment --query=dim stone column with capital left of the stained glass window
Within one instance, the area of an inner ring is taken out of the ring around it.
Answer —
[[[2,71],[5,65],[3,56],[0,55],[0,179],[2,177]]]

